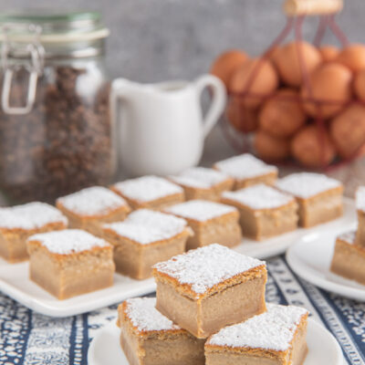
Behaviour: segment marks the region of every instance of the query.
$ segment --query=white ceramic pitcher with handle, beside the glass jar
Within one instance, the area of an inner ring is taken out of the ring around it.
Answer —
[[[201,95],[207,87],[212,101],[203,117]],[[204,138],[221,116],[225,101],[223,83],[211,75],[194,82],[154,85],[114,80],[110,107],[123,172],[167,175],[199,163]]]

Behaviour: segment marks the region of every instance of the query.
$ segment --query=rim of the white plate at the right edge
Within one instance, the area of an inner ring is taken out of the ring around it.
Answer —
[[[333,235],[340,235],[343,230],[339,229],[336,232],[332,232]],[[312,238],[311,241],[317,240],[320,235],[328,235],[329,232],[318,232],[316,238]],[[331,293],[337,294],[341,297],[348,297],[350,299],[355,299],[358,301],[365,301],[365,290],[357,287],[347,287],[344,284],[337,283],[335,281],[329,280],[327,277],[318,276],[318,270],[309,267],[307,264],[303,263],[295,253],[295,250],[299,245],[306,245],[308,243],[309,235],[301,237],[297,242],[287,249],[286,259],[287,264],[294,271],[297,276],[307,280],[309,283],[321,289],[327,290]],[[307,242],[306,242],[307,240]],[[330,271],[328,270],[328,273]],[[331,273],[332,275],[336,275]],[[342,277],[342,276],[339,276]],[[356,282],[355,282],[356,283]]]

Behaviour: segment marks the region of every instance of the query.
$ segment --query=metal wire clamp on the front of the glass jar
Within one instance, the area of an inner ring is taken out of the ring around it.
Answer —
[[[10,64],[9,57],[12,54],[12,50],[14,50],[16,47],[14,47],[8,34],[11,29],[14,29],[14,26],[18,25],[7,24],[2,27],[5,39],[1,48],[1,62],[4,71],[1,106],[4,112],[7,114],[20,115],[27,114],[33,109],[36,100],[36,85],[38,76],[40,76],[43,72],[45,50],[39,41],[39,35],[42,32],[42,28],[40,26],[27,25],[29,33],[33,34],[34,36],[33,42],[26,44],[25,52],[27,57],[22,63]],[[10,105],[10,93],[13,76],[14,73],[20,68],[24,68],[29,72],[26,105],[24,107],[12,107]]]

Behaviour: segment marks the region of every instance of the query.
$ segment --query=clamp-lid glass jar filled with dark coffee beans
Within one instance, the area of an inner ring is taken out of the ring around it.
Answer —
[[[0,16],[0,190],[11,203],[110,182],[108,35],[98,13]]]

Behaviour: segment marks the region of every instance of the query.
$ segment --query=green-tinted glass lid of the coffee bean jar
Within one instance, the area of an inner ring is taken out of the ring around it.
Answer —
[[[31,27],[30,27],[31,26]],[[10,36],[18,42],[33,37],[39,29],[42,43],[92,40],[109,36],[98,12],[57,12],[57,10],[23,10],[21,13],[0,15],[0,41]]]

